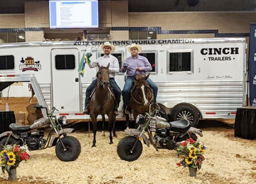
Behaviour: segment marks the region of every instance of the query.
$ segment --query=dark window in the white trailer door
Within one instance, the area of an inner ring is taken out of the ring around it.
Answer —
[[[56,55],[55,68],[57,70],[73,70],[76,68],[74,55]]]

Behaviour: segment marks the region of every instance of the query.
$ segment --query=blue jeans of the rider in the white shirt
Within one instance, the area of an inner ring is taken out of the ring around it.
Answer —
[[[114,78],[110,78],[110,85],[111,88],[115,94],[115,98],[116,98],[116,107],[119,106],[120,100],[121,100],[121,89],[120,87],[116,84],[116,81]],[[93,87],[97,84],[97,79],[93,80],[92,83],[87,87],[86,89],[86,93],[85,93],[85,108],[86,106],[88,106],[89,104],[89,97],[90,94],[92,92]],[[89,106],[88,106],[89,107]]]

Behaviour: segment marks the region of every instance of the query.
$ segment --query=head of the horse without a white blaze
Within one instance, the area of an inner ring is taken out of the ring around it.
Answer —
[[[107,65],[107,67],[103,67],[100,66],[98,64],[98,68],[99,71],[96,75],[97,79],[98,79],[98,83],[100,83],[100,85],[104,88],[107,89],[107,87],[110,87],[110,83],[109,83],[109,64]]]

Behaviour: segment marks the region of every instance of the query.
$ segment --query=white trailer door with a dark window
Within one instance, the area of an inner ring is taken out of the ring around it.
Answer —
[[[78,50],[53,49],[52,106],[60,112],[80,112],[80,87]]]

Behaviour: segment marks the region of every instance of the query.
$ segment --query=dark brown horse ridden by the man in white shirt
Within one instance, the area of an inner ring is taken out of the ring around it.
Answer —
[[[111,90],[109,82],[109,64],[107,67],[98,66],[99,71],[97,73],[97,85],[96,90],[92,94],[89,106],[90,116],[92,118],[93,126],[93,141],[92,147],[96,146],[96,132],[97,132],[97,116],[102,115],[104,120],[104,114],[107,114],[109,118],[109,144],[113,144],[112,141],[112,129],[115,124],[116,116],[114,114],[115,99],[114,93]],[[104,122],[103,122],[104,123]]]

